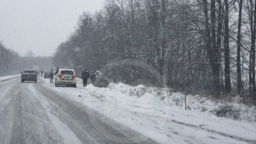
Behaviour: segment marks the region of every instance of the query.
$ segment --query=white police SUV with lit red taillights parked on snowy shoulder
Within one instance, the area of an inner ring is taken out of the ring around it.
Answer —
[[[55,77],[55,86],[67,85],[76,87],[77,76],[75,71],[72,68],[61,67],[57,73],[54,73]]]

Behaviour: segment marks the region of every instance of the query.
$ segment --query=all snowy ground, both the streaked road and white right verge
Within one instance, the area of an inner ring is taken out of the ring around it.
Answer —
[[[81,95],[81,97],[78,97]],[[0,82],[1,144],[255,144],[255,123],[165,106],[91,84]]]

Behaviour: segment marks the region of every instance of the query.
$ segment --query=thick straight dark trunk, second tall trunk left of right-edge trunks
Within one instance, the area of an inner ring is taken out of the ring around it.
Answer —
[[[224,0],[225,12],[224,12],[224,61],[225,61],[225,92],[231,93],[230,82],[230,60],[229,60],[229,26],[228,26],[228,0]]]

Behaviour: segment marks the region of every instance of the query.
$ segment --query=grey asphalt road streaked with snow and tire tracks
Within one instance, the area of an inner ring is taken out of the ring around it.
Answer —
[[[20,77],[0,82],[1,144],[157,143],[42,83],[21,83]]]

